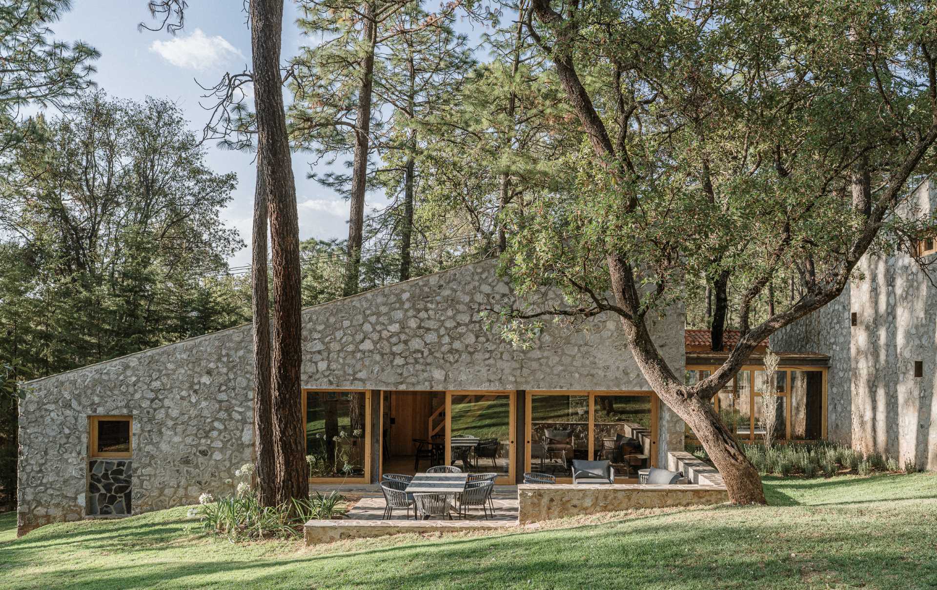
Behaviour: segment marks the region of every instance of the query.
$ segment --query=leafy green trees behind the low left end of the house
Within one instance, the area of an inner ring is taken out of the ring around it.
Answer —
[[[169,101],[82,96],[0,179],[0,355],[52,375],[241,323],[243,246],[219,210],[236,179]],[[80,310],[80,311],[79,311]]]

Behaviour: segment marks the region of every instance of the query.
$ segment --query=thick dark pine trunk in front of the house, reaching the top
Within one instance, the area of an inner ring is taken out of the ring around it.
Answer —
[[[299,221],[280,77],[283,0],[250,3],[258,173],[267,194],[274,278],[271,346],[276,501],[307,498],[302,369]]]

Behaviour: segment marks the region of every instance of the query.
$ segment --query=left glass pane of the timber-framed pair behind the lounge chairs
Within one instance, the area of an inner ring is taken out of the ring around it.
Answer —
[[[588,458],[588,395],[530,396],[530,466],[570,476],[573,459]]]

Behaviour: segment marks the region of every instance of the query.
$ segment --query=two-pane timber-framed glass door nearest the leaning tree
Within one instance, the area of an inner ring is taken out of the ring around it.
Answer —
[[[572,481],[574,459],[609,461],[616,481],[656,465],[650,391],[528,391],[525,469]]]

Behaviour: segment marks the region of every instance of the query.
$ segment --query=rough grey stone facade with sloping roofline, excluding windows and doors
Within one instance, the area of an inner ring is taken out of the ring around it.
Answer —
[[[515,302],[488,260],[303,311],[303,386],[372,390],[650,388],[617,317],[575,329],[547,322],[522,350],[486,330],[479,312]],[[655,343],[684,369],[684,316],[652,321]],[[133,513],[231,491],[253,449],[249,325],[145,350],[29,384],[21,405],[19,527],[87,515],[88,417],[133,416]],[[299,392],[297,392],[297,397]],[[658,454],[681,450],[683,424],[666,406]]]

